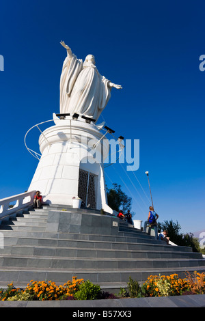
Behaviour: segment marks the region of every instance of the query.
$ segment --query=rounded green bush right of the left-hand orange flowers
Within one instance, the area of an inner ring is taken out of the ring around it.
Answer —
[[[77,300],[96,300],[100,294],[100,285],[93,284],[90,280],[79,285],[79,290],[74,294]]]

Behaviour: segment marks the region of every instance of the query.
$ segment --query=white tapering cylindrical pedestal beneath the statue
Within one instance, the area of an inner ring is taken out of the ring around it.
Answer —
[[[90,186],[88,183],[86,186],[83,179],[86,173],[88,178],[92,176],[95,208],[113,212],[107,206],[103,169],[103,161],[109,153],[109,142],[102,136],[94,124],[87,124],[81,120],[59,120],[55,126],[44,130],[39,138],[42,156],[29,191],[40,191],[46,203],[72,206],[74,197],[82,197],[78,195],[81,171],[81,181],[87,191]],[[97,145],[93,147],[95,144]],[[83,187],[83,191],[85,189]],[[85,198],[83,201],[90,203],[87,195]]]

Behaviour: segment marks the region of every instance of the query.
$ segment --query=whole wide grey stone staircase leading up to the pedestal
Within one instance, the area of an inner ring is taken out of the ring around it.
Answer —
[[[64,210],[63,210],[64,209]],[[205,271],[201,253],[166,245],[139,229],[100,211],[49,205],[16,213],[1,221],[0,288],[24,288],[31,279],[64,284],[72,276],[90,279],[118,293],[129,276]]]

